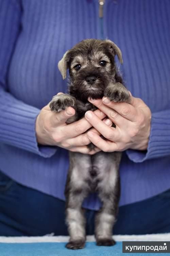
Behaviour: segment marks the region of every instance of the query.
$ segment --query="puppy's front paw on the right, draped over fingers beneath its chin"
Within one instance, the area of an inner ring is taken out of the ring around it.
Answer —
[[[104,96],[114,102],[130,102],[129,91],[123,85],[117,84],[106,87]]]

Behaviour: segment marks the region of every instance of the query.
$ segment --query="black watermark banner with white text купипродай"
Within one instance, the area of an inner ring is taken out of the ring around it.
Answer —
[[[170,253],[170,242],[123,242],[122,253]]]

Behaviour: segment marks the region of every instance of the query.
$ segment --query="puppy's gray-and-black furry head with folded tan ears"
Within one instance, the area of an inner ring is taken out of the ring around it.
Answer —
[[[110,40],[86,39],[67,51],[58,68],[63,79],[69,69],[70,94],[83,101],[102,98],[105,87],[114,82],[115,55],[123,63],[120,49]]]

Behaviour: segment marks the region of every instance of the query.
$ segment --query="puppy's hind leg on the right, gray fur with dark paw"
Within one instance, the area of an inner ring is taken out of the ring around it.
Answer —
[[[102,202],[102,207],[95,218],[97,245],[111,246],[115,244],[112,239],[112,232],[120,197],[120,160],[120,152],[98,152],[92,161],[93,166],[98,168],[97,192]]]

